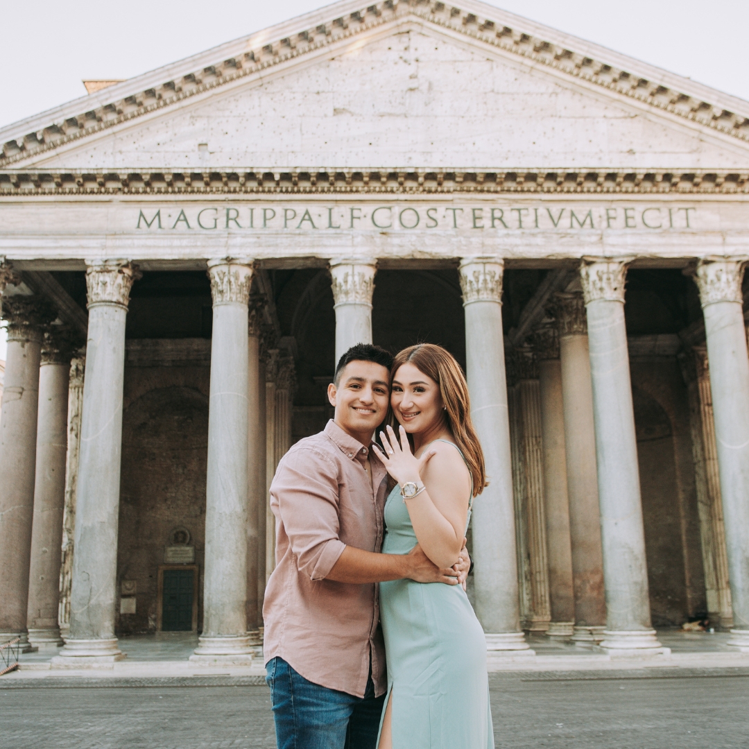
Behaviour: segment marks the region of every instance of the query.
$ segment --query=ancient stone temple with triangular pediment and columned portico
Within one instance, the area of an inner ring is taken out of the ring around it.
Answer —
[[[475,0],[345,0],[0,130],[0,632],[242,664],[336,357],[446,346],[470,595],[749,650],[749,103]],[[64,642],[64,646],[58,649]]]

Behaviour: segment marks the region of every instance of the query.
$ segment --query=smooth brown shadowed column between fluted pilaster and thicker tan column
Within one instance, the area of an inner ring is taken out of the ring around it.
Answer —
[[[574,583],[567,493],[567,454],[562,405],[559,333],[554,324],[536,330],[541,398],[542,459],[551,623],[548,637],[568,640],[574,627]]]

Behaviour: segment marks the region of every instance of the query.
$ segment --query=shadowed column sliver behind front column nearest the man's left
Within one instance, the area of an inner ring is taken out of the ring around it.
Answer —
[[[263,300],[252,299],[249,304],[249,335],[247,340],[247,630],[253,645],[260,644],[259,628],[262,623],[262,599],[259,598],[258,577],[261,573],[259,560],[260,535],[265,538],[265,524],[259,525],[260,509],[265,506],[265,491],[261,488],[261,473],[265,456],[265,425],[260,421],[260,387],[265,390],[265,380],[260,380],[260,333]],[[263,393],[264,395],[264,393]],[[261,491],[262,490],[262,491]],[[263,513],[263,520],[265,515]]]

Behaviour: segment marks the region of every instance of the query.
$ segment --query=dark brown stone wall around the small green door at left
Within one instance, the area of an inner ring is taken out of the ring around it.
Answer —
[[[158,569],[175,527],[189,530],[202,578],[209,374],[197,366],[126,369],[118,588],[134,580],[137,592],[136,613],[118,614],[123,634],[157,628]]]

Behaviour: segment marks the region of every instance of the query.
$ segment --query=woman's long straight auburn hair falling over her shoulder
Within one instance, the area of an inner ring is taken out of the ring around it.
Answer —
[[[406,363],[413,364],[419,372],[431,377],[440,387],[440,395],[445,404],[443,411],[445,422],[455,444],[461,449],[466,459],[471,479],[473,479],[473,496],[476,497],[477,494],[481,494],[487,483],[484,451],[470,418],[470,395],[468,395],[468,384],[461,366],[455,361],[455,357],[441,346],[433,343],[419,343],[395,354],[395,360],[390,369],[391,386],[395,372],[398,372],[398,368]],[[397,434],[398,421],[395,419],[392,407],[388,421]],[[413,441],[410,441],[413,447]]]

